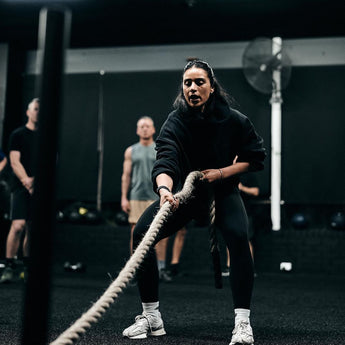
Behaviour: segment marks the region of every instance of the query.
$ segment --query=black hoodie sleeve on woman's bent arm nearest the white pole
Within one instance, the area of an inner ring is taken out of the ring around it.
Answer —
[[[263,139],[256,133],[251,121],[245,117],[242,122],[242,140],[237,162],[250,163],[251,171],[262,170],[266,150],[263,147]]]

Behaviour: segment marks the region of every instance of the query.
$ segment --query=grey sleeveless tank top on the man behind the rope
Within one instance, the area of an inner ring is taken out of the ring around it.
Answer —
[[[130,200],[156,200],[153,192],[151,172],[156,160],[156,144],[149,146],[140,143],[132,145],[132,176]]]

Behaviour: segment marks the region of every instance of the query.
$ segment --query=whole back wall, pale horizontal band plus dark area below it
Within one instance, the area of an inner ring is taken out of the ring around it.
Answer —
[[[284,40],[292,61],[282,104],[282,199],[287,203],[345,202],[345,37]],[[151,116],[157,134],[171,111],[186,57],[214,67],[236,107],[254,123],[267,149],[257,173],[261,196],[270,196],[270,95],[255,91],[242,71],[248,42],[70,50],[61,118],[58,197],[96,201],[97,123],[104,116],[103,202],[120,202],[123,153],[138,138],[136,122]],[[28,53],[22,98],[36,96],[35,51]],[[105,74],[100,71],[104,70]],[[100,104],[102,100],[102,104]],[[6,134],[6,133],[5,133]]]

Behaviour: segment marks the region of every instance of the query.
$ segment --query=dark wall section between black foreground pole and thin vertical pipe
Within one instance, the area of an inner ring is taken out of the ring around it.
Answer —
[[[98,84],[98,75],[92,74],[65,79],[58,165],[61,199],[92,200],[96,196]]]

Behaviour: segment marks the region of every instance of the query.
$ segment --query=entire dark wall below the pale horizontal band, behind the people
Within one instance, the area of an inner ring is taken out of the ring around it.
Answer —
[[[264,138],[266,169],[258,173],[262,194],[270,194],[269,96],[255,91],[242,70],[217,70]],[[344,66],[294,68],[283,92],[282,197],[297,203],[345,201]],[[65,78],[59,156],[59,199],[96,200],[97,118],[103,89],[103,202],[120,201],[123,153],[137,141],[136,122],[151,116],[157,134],[171,110],[180,72],[72,74]],[[24,103],[33,95],[34,77],[24,77]]]

